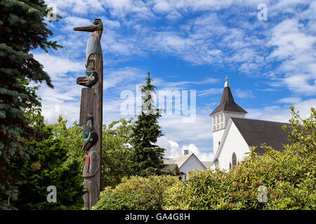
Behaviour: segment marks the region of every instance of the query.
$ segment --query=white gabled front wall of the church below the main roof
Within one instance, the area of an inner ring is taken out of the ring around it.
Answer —
[[[232,121],[230,121],[232,122]],[[228,135],[223,143],[218,162],[220,169],[229,169],[232,163],[232,153],[236,154],[237,162],[242,161],[249,153],[249,147],[244,141],[236,125],[232,122]]]

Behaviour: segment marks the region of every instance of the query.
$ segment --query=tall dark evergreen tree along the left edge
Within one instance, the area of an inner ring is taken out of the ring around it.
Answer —
[[[27,162],[27,139],[37,137],[24,114],[40,106],[30,81],[45,81],[53,87],[43,66],[29,52],[37,47],[48,52],[61,47],[48,41],[53,35],[44,22],[48,11],[44,0],[0,1],[0,208],[16,200],[17,184],[22,184],[17,169]],[[58,17],[60,18],[60,17]],[[22,141],[25,139],[25,141]]]

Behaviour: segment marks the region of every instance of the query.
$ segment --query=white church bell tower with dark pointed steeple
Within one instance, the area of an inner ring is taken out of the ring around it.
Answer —
[[[220,141],[229,118],[244,118],[247,113],[247,111],[235,103],[232,92],[230,91],[230,85],[228,84],[228,76],[226,76],[225,80],[220,104],[209,115],[212,118],[213,155],[216,155],[218,147],[220,146]]]

